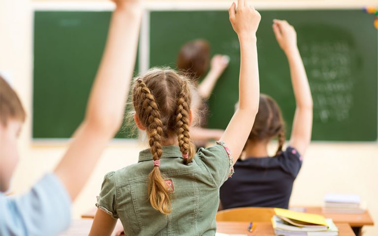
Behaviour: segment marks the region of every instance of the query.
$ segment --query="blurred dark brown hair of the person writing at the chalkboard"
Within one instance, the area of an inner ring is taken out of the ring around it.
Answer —
[[[177,57],[177,67],[193,79],[201,78],[209,68],[210,44],[204,39],[196,39],[184,44]]]

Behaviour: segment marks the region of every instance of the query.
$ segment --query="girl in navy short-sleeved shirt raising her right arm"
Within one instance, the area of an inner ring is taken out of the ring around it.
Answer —
[[[296,110],[289,146],[285,141],[284,120],[277,103],[261,94],[259,109],[244,148],[245,159],[234,166],[235,174],[221,186],[221,208],[287,208],[293,182],[302,166],[311,141],[313,101],[306,71],[297,48],[295,29],[286,21],[274,20],[273,31],[289,62]],[[269,157],[269,142],[278,139],[274,157]]]

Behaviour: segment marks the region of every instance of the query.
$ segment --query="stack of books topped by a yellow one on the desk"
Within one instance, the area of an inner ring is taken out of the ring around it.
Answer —
[[[272,218],[277,236],[338,236],[332,219],[324,216],[275,208]]]

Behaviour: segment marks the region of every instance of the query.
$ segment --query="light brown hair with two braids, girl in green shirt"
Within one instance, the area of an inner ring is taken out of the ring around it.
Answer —
[[[192,161],[195,147],[189,135],[191,84],[171,69],[152,69],[135,79],[132,103],[146,128],[154,161],[162,154],[162,142],[177,135],[184,163]],[[149,195],[152,207],[163,214],[172,211],[167,185],[159,166],[150,173]]]

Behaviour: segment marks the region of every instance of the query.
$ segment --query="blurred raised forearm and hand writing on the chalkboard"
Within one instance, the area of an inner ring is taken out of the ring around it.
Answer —
[[[219,77],[228,66],[229,57],[225,55],[215,55],[211,59],[211,67],[209,73],[198,85],[198,94],[202,99],[208,99],[214,89]]]

